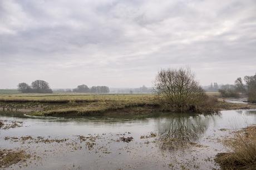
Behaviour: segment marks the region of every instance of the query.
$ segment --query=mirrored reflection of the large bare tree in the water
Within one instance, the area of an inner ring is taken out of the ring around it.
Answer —
[[[159,146],[174,150],[198,142],[208,128],[211,116],[176,116],[158,123]]]

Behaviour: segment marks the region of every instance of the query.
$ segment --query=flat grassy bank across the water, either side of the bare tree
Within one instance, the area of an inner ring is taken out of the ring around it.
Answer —
[[[218,94],[209,93],[209,96]],[[248,109],[256,105],[212,100],[208,109]],[[153,94],[0,94],[0,109],[27,112],[34,116],[91,116],[105,114],[146,114],[171,112],[161,106]]]

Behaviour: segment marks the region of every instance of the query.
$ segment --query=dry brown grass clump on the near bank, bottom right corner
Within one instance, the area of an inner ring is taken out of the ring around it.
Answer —
[[[249,126],[225,140],[228,153],[218,153],[215,161],[222,169],[256,169],[256,126]]]

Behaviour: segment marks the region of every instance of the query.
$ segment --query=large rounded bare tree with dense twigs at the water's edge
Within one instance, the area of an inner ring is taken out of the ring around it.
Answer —
[[[206,97],[189,68],[162,69],[156,76],[154,91],[179,111],[196,106]]]

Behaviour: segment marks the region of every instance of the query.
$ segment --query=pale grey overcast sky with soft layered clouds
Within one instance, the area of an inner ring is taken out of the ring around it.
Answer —
[[[200,84],[256,72],[256,1],[0,1],[0,88],[43,79],[152,86],[190,66]]]

